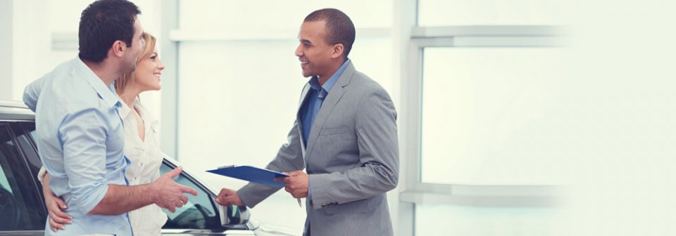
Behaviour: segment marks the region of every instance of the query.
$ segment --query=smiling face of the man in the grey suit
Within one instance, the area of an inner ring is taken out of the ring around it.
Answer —
[[[301,61],[303,77],[330,77],[334,70],[334,47],[326,42],[326,22],[324,20],[303,22],[298,35],[300,44],[296,56]]]

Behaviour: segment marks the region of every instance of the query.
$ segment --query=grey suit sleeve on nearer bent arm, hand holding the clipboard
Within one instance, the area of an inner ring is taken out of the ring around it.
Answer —
[[[361,166],[343,172],[310,176],[315,203],[343,204],[396,188],[399,147],[396,111],[383,89],[365,93],[356,110],[355,132]],[[321,204],[314,204],[318,209]]]

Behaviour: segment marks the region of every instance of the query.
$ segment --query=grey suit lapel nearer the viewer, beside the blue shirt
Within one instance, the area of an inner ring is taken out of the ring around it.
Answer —
[[[326,119],[329,117],[334,107],[336,107],[340,98],[345,94],[345,87],[350,84],[350,79],[354,72],[354,66],[352,65],[352,62],[350,62],[347,67],[345,67],[343,74],[338,77],[338,81],[336,81],[336,84],[331,88],[331,91],[329,91],[329,95],[326,97],[326,100],[324,100],[324,103],[322,103],[319,114],[315,117],[315,123],[312,124],[310,137],[308,137],[308,147],[305,152],[306,164],[308,163],[308,156],[312,153],[313,147],[315,146],[315,140],[317,140],[321,129],[324,127]]]

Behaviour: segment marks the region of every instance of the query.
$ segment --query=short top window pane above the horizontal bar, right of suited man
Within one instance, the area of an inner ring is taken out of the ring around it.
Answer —
[[[418,25],[565,25],[570,1],[419,0]]]

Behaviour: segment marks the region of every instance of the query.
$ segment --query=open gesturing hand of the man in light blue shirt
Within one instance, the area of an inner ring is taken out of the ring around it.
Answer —
[[[156,195],[153,202],[172,213],[175,211],[174,208],[179,208],[188,202],[188,197],[183,195],[184,192],[197,196],[197,191],[173,180],[181,171],[183,171],[183,167],[178,166],[151,183],[153,185],[152,190]]]

